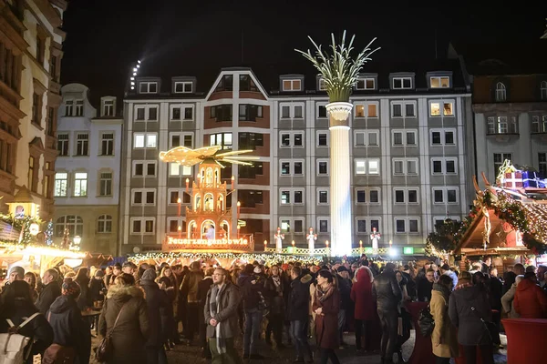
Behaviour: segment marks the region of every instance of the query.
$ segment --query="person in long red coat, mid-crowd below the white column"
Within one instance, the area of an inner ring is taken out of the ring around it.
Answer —
[[[372,272],[368,267],[358,268],[356,271],[356,281],[351,288],[351,299],[356,304],[356,349],[362,349],[362,339],[364,337],[365,349],[371,350],[372,335],[374,335],[373,321],[376,319],[376,305],[372,297]],[[363,336],[363,329],[365,335]]]

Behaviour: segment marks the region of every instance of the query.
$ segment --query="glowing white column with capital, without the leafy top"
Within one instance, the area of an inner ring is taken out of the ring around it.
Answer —
[[[344,102],[326,106],[330,116],[330,228],[335,256],[349,255],[351,229],[351,165],[349,160],[349,113],[353,105]]]

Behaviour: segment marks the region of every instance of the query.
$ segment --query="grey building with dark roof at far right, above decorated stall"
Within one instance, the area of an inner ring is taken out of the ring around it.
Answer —
[[[547,177],[547,75],[473,76],[477,171],[490,183],[505,159]]]

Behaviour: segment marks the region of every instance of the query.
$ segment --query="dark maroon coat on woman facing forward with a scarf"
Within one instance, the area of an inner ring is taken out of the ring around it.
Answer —
[[[320,349],[338,349],[338,311],[340,310],[340,292],[334,287],[333,294],[323,302],[315,293],[313,309],[323,308],[322,315],[315,315],[315,338]]]

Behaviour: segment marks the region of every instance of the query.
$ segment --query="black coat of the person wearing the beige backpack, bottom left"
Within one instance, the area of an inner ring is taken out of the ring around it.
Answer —
[[[5,319],[11,319],[14,325],[17,326],[36,312],[37,309],[32,303],[22,299],[15,301],[13,312],[7,312],[6,308],[3,307],[0,310],[0,333],[6,333],[9,328]],[[35,341],[32,346],[32,355],[43,354],[53,342],[53,329],[51,329],[44,315],[36,316],[36,318],[32,319],[23,328],[19,329],[18,333]],[[26,364],[32,364],[32,355],[26,360]]]

